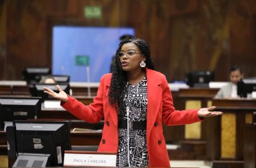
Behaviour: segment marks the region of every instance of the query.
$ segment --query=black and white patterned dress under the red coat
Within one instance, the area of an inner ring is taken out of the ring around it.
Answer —
[[[119,112],[117,167],[149,167],[147,153],[147,78],[136,85],[127,83],[125,106],[129,107],[129,135],[126,112]],[[121,114],[121,115],[120,115]],[[123,114],[123,115],[122,115]],[[129,136],[129,156],[127,153]],[[129,158],[128,158],[129,157]],[[129,163],[128,163],[129,161]]]

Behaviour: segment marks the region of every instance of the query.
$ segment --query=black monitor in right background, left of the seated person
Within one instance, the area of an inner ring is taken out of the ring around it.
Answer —
[[[204,87],[209,88],[209,82],[214,81],[214,72],[205,71],[191,71],[187,73],[187,84],[190,87]]]

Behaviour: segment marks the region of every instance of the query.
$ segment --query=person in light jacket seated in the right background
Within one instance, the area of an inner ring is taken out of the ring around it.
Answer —
[[[229,70],[229,84],[223,86],[215,95],[215,98],[239,98],[237,95],[237,82],[243,78],[243,72],[238,66],[232,66]]]

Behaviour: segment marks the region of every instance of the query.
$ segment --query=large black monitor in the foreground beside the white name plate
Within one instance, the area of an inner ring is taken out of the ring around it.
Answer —
[[[71,150],[70,125],[68,120],[14,121],[7,127],[8,155],[17,155],[13,167],[63,166],[64,151]]]

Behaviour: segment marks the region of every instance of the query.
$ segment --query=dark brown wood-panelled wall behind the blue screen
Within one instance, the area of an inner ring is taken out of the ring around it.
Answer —
[[[102,17],[85,18],[88,5],[101,6]],[[190,70],[214,70],[215,79],[225,81],[232,64],[256,76],[253,0],[4,0],[0,7],[7,18],[1,12],[7,44],[0,80],[21,80],[25,66],[51,66],[55,24],[135,27],[169,82]]]

